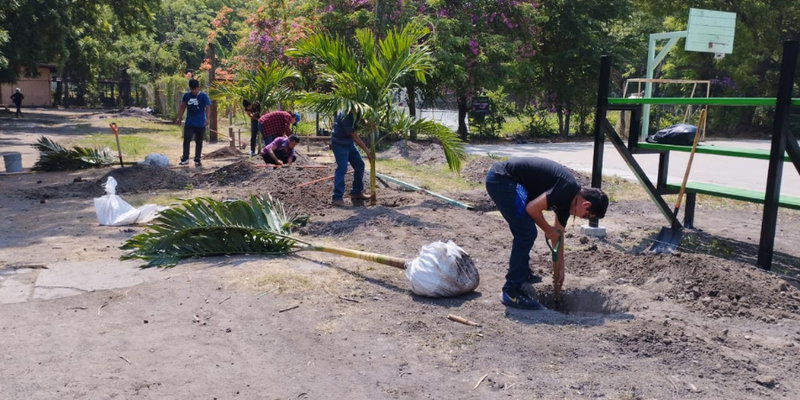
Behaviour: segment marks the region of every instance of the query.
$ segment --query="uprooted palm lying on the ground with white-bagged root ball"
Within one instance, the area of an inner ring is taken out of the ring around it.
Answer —
[[[286,255],[321,251],[373,261],[406,270],[411,290],[419,295],[449,297],[469,293],[480,277],[472,259],[452,242],[431,243],[413,260],[318,246],[290,236],[307,217],[287,213],[271,197],[252,196],[250,201],[220,202],[199,197],[182,207],[163,211],[144,233],[122,245],[129,250],[121,258],[147,261],[143,267],[172,267],[189,257],[222,255]]]

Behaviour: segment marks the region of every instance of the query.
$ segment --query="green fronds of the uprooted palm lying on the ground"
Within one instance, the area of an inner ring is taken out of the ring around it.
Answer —
[[[172,267],[188,257],[288,254],[310,246],[289,236],[307,222],[308,217],[287,213],[270,196],[251,196],[249,202],[200,197],[161,212],[144,233],[122,245],[129,251],[121,259]]]

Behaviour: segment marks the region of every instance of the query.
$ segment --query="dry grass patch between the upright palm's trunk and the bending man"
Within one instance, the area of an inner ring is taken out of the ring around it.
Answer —
[[[437,193],[469,190],[475,186],[451,172],[444,164],[414,165],[404,159],[381,159],[378,157],[376,168],[379,173]]]

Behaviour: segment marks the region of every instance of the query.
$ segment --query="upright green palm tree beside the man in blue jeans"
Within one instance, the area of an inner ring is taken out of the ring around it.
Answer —
[[[452,171],[461,170],[466,158],[463,143],[447,127],[432,120],[416,119],[403,113],[394,104],[393,94],[405,78],[425,82],[433,66],[430,48],[424,43],[428,28],[415,23],[401,30],[392,29],[376,42],[372,31],[359,29],[355,39],[357,51],[348,48],[344,39],[327,34],[315,34],[301,40],[296,49],[286,52],[290,57],[305,57],[316,63],[320,78],[330,91],[306,93],[300,104],[322,114],[343,111],[360,113],[370,137],[370,193],[375,204],[375,145],[378,132],[396,132],[404,137],[416,130],[437,139],[444,149]]]

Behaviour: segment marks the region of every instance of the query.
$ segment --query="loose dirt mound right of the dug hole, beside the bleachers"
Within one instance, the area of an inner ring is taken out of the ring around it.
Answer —
[[[800,315],[800,290],[746,264],[704,254],[635,256],[611,249],[580,255],[580,275],[608,271],[630,284],[670,299],[707,318],[747,317],[767,323]]]

